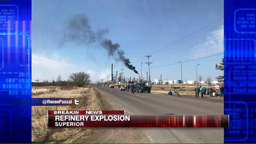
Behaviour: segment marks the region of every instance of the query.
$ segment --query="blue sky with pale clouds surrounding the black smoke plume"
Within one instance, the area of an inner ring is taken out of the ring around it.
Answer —
[[[96,82],[111,76],[112,63],[114,72],[123,68],[125,77],[139,77],[99,43],[64,38],[69,20],[78,14],[87,17],[91,31],[108,29],[104,38],[120,44],[139,73],[141,62],[148,61],[145,55],[152,55],[151,80],[160,74],[163,79],[181,79],[178,61],[183,62],[183,80],[196,79],[197,64],[198,76],[214,79],[223,73],[215,70],[223,58],[216,54],[224,52],[223,0],[44,0],[32,1],[32,80],[52,81],[58,74],[67,80],[71,73],[84,71]],[[146,71],[144,63],[143,77]]]

